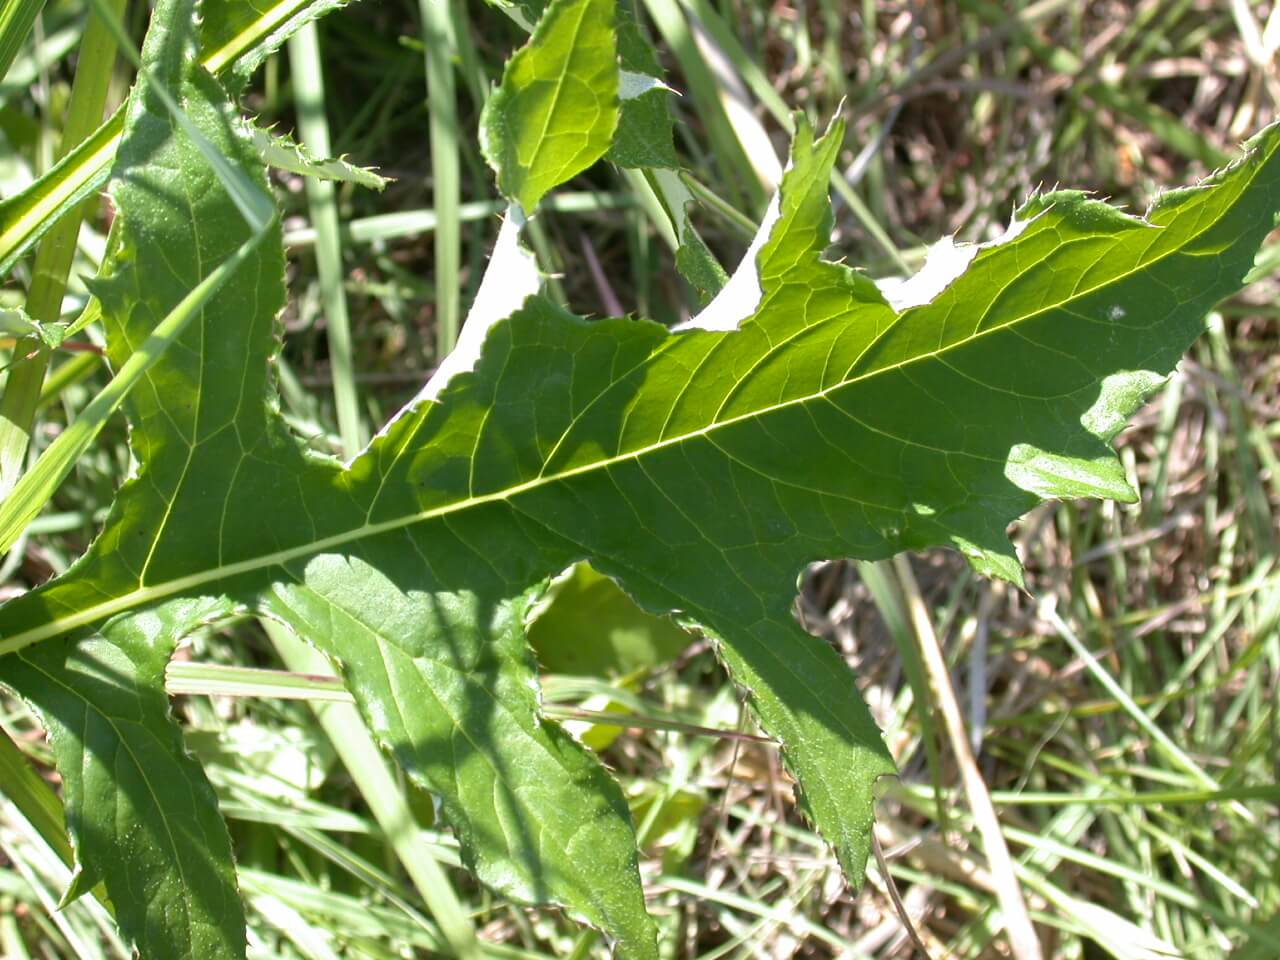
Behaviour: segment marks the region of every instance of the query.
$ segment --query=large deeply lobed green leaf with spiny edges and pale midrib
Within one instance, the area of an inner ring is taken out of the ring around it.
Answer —
[[[160,23],[186,23],[189,1],[165,0]],[[539,26],[530,56],[558,70],[585,58],[608,83],[605,6],[553,3],[543,23],[596,24],[593,46]],[[154,29],[154,69],[261,179],[188,40]],[[538,106],[549,137],[579,109],[553,101]],[[246,230],[145,86],[129,116],[127,236],[101,292],[116,364]],[[1016,580],[1010,521],[1044,498],[1128,495],[1108,442],[1252,265],[1280,209],[1280,129],[1146,219],[1036,198],[1004,242],[938,248],[896,306],[820,259],[840,133],[799,124],[760,242],[691,329],[586,321],[539,296],[481,312],[493,323],[474,366],[453,365],[349,465],[305,452],[275,408],[278,236],[156,364],[128,401],[140,466],[101,536],[0,608],[0,678],[51,730],[79,886],[106,879],[147,955],[243,952],[227,840],[160,672],[186,632],[255,611],[334,660],[485,882],[654,956],[622,794],[541,716],[524,635],[539,586],[579,559],[717,639],[860,878],[872,785],[891,764],[840,657],[791,616],[797,573],[945,544]],[[609,146],[588,140],[571,161],[498,150],[499,183],[536,202]]]

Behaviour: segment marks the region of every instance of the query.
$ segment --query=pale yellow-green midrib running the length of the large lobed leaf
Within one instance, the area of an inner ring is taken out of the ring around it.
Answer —
[[[1254,168],[1252,175],[1249,177],[1249,182],[1253,180],[1253,178],[1257,175],[1258,169],[1267,160],[1270,160],[1270,157],[1266,157],[1258,163],[1258,166]],[[1247,188],[1248,183],[1245,183],[1245,186],[1242,188],[1240,195],[1243,195]],[[471,509],[472,507],[481,507],[488,503],[500,503],[503,500],[509,500],[515,497],[518,497],[522,493],[536,490],[541,486],[547,486],[550,484],[571,480],[572,477],[579,476],[581,474],[589,474],[595,470],[608,470],[612,466],[639,460],[641,457],[646,457],[650,453],[655,453],[657,451],[664,449],[667,447],[672,447],[681,443],[689,443],[691,440],[698,439],[699,436],[707,436],[714,430],[733,426],[735,424],[742,422],[745,420],[755,420],[758,417],[774,413],[787,407],[812,403],[817,399],[826,398],[827,396],[835,393],[836,390],[842,390],[846,387],[851,387],[872,376],[891,372],[893,370],[900,370],[902,367],[906,367],[911,364],[943,356],[950,351],[959,349],[960,347],[970,344],[975,340],[997,334],[1010,326],[1024,324],[1052,310],[1059,310],[1076,300],[1088,297],[1096,293],[1097,291],[1103,289],[1105,287],[1120,283],[1124,279],[1133,276],[1138,270],[1149,269],[1155,264],[1158,264],[1162,260],[1171,257],[1178,252],[1180,252],[1181,250],[1184,250],[1192,241],[1196,239],[1196,237],[1199,237],[1202,233],[1211,229],[1213,224],[1219,223],[1221,220],[1221,216],[1222,214],[1215,216],[1208,224],[1204,225],[1202,230],[1198,230],[1197,233],[1188,237],[1187,241],[1179,244],[1178,247],[1171,248],[1166,253],[1162,253],[1161,256],[1156,257],[1155,260],[1135,266],[1133,270],[1129,270],[1119,276],[1114,276],[1103,284],[1098,284],[1096,287],[1091,287],[1084,291],[1076,291],[1070,297],[1062,300],[1059,303],[1041,307],[1039,310],[1036,310],[1030,314],[1015,317],[1006,324],[992,326],[987,330],[982,330],[977,334],[973,334],[972,337],[966,337],[963,340],[956,340],[955,343],[950,343],[942,347],[941,349],[929,351],[927,353],[918,353],[916,356],[904,360],[901,362],[878,367],[876,370],[869,370],[864,374],[860,374],[859,376],[847,380],[841,380],[840,383],[835,383],[829,387],[817,390],[815,393],[805,394],[803,397],[794,397],[788,401],[783,401],[782,403],[774,403],[768,407],[762,407],[759,410],[753,410],[746,413],[740,413],[739,416],[730,417],[728,420],[718,420],[716,422],[708,424],[707,426],[699,430],[692,430],[689,433],[680,434],[678,436],[658,440],[657,443],[652,443],[648,447],[641,447],[635,451],[628,451],[627,453],[620,453],[617,456],[608,457],[605,460],[598,460],[593,463],[584,463],[579,467],[573,467],[571,470],[563,470],[558,474],[538,476],[534,477],[532,480],[526,480],[522,484],[508,486],[503,490],[497,490],[489,494],[481,494],[479,497],[468,497],[465,500],[457,500],[454,503],[448,503],[442,507],[435,507],[433,509],[419,511],[416,513],[407,513],[404,516],[396,517],[394,520],[385,520],[380,524],[364,524],[358,527],[346,530],[340,534],[334,534],[332,536],[321,538],[319,540],[312,540],[307,544],[300,544],[298,547],[292,547],[284,550],[276,550],[274,553],[260,554],[257,557],[252,557],[244,561],[238,561],[236,563],[227,563],[219,567],[214,567],[211,570],[201,571],[198,573],[191,573],[184,577],[178,577],[177,580],[169,580],[165,581],[164,584],[156,584],[155,586],[142,586],[138,588],[137,590],[131,590],[127,594],[122,594],[120,596],[116,596],[111,600],[105,600],[102,603],[93,604],[92,607],[86,607],[84,609],[77,613],[72,613],[69,616],[64,616],[54,621],[49,621],[32,630],[15,634],[14,636],[5,640],[0,640],[0,655],[14,653],[24,646],[29,646],[31,644],[36,644],[42,640],[51,640],[55,636],[60,636],[72,630],[77,630],[78,627],[90,626],[91,623],[97,623],[118,613],[124,613],[125,611],[129,611],[134,607],[141,607],[154,600],[163,600],[166,596],[173,596],[175,594],[186,593],[191,588],[197,588],[205,584],[215,582],[218,580],[225,580],[229,577],[239,576],[241,573],[251,573],[257,570],[280,566],[294,559],[301,559],[303,557],[315,553],[321,553],[330,548],[343,547],[344,544],[361,540],[366,536],[378,536],[379,534],[387,534],[396,530],[402,530],[403,527],[412,526],[415,524],[421,524],[429,520],[434,520],[436,517],[449,516],[451,513],[457,513],[463,509]]]

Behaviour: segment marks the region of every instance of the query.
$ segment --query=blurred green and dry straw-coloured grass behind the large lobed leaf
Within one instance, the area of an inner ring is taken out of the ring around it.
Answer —
[[[778,177],[791,109],[849,119],[836,251],[884,276],[913,270],[942,234],[998,233],[1038,186],[1140,210],[1270,122],[1280,91],[1280,14],[1247,0],[637,5],[681,92],[695,224],[730,269]],[[127,15],[141,36],[145,5]],[[0,196],[52,161],[83,23],[83,4],[49,3],[0,83]],[[283,402],[317,448],[340,451],[339,422],[364,436],[381,425],[465,314],[499,209],[476,122],[522,40],[479,3],[379,0],[325,18],[256,77],[246,104],[262,122],[394,178],[380,195],[278,179],[293,293]],[[424,55],[440,42],[451,61]],[[110,108],[128,81],[118,67]],[[580,312],[669,321],[696,308],[641,180],[602,164],[571,187],[532,221],[544,269],[559,274],[554,296]],[[91,212],[74,276],[95,271],[109,218],[102,205]],[[23,302],[29,283],[19,268],[0,306]],[[84,296],[73,282],[65,312]],[[1272,282],[1222,305],[1125,431],[1140,503],[1061,504],[1020,525],[1029,594],[941,552],[806,577],[797,616],[855,664],[902,772],[884,783],[877,837],[933,956],[1002,955],[996,891],[1014,883],[1050,956],[1280,956],[1277,316]],[[333,357],[326,332],[342,317],[351,356]],[[56,357],[37,447],[104,378],[92,351]],[[120,420],[3,561],[5,595],[79,556],[127,470]],[[704,643],[641,618],[589,571],[557,584],[545,609],[535,641],[548,698],[593,722],[584,735],[632,800],[671,956],[918,950],[883,868],[861,895],[845,888]],[[1015,876],[986,867],[964,762],[919,655],[933,644]],[[314,668],[282,662],[256,622],[197,636],[179,659]],[[366,735],[347,704],[325,701],[332,685],[283,682],[187,663],[172,673],[191,748],[232,819],[252,955],[429,956],[451,940],[439,928],[449,916],[486,954],[603,952],[571,920],[495,902],[453,869],[430,797],[353,759]],[[298,692],[308,699],[280,696]],[[628,726],[594,722],[604,709]],[[51,777],[22,704],[0,703],[0,724]],[[413,869],[412,851],[447,876]],[[58,858],[0,805],[0,954],[124,955],[91,899],[52,910],[64,883]],[[452,915],[428,906],[442,883],[460,901]]]

